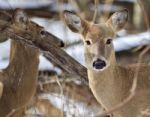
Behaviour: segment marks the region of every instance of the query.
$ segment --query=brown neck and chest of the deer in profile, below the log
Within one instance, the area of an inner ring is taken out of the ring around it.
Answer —
[[[11,41],[10,62],[5,73],[4,92],[0,100],[0,113],[26,106],[34,96],[37,85],[39,50]],[[7,105],[7,106],[5,106]],[[9,108],[8,108],[9,107]]]

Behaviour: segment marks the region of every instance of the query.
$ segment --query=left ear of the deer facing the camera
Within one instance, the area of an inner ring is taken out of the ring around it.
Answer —
[[[82,33],[87,25],[80,16],[70,11],[64,11],[64,20],[67,26],[76,33]]]

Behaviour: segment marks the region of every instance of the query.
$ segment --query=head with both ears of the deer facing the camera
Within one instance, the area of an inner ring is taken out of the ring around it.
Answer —
[[[85,47],[85,61],[88,69],[102,71],[111,64],[114,49],[112,39],[122,29],[128,19],[126,9],[114,13],[106,23],[90,24],[80,16],[65,11],[68,27],[80,33]]]

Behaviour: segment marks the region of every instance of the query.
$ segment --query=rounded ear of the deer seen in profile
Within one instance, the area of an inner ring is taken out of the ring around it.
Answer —
[[[13,15],[13,20],[16,23],[26,24],[28,22],[28,17],[23,10],[16,9]]]

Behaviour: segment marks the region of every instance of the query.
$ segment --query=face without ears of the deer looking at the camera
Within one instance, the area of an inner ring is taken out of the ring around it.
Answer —
[[[85,61],[88,69],[103,70],[110,65],[114,32],[106,24],[91,25],[84,38]]]

